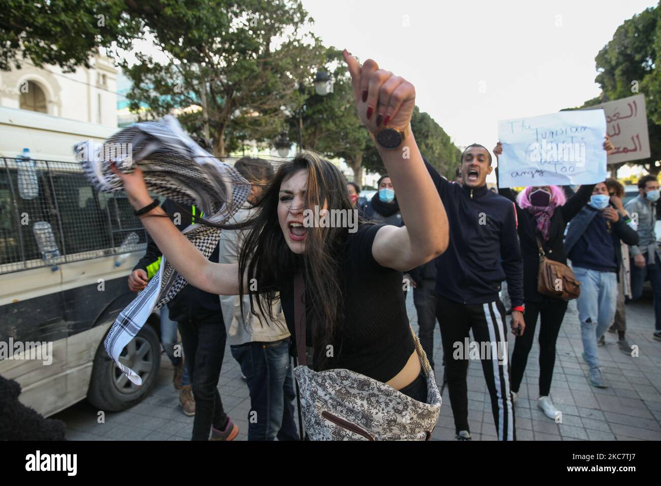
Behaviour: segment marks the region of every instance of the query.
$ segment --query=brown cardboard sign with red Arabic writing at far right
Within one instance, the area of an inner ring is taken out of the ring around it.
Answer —
[[[583,108],[603,108],[606,130],[615,151],[608,156],[608,163],[646,159],[650,156],[650,136],[647,132],[647,114],[644,95],[609,101]]]

